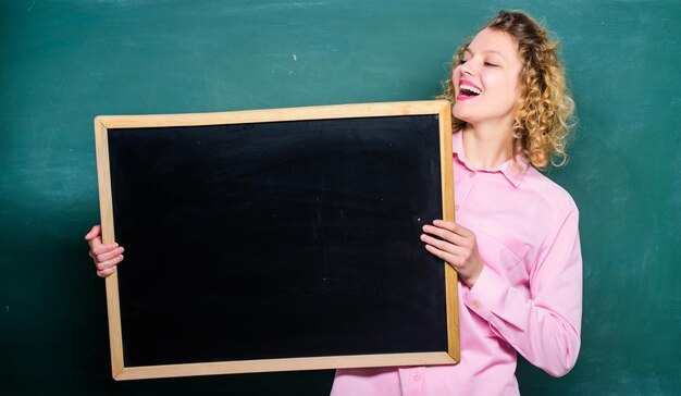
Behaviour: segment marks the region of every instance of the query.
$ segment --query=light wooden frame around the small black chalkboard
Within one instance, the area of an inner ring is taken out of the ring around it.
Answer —
[[[112,186],[109,168],[109,129],[134,127],[249,124],[281,121],[380,117],[424,114],[435,114],[438,117],[441,129],[439,154],[443,186],[443,218],[447,221],[454,221],[451,119],[450,104],[447,101],[436,100],[392,103],[366,103],[199,114],[97,116],[95,119],[95,136],[97,148],[102,240],[104,244],[113,243],[115,240],[113,224]],[[444,263],[444,267],[447,306],[447,350],[423,354],[416,352],[285,358],[150,367],[125,366],[123,354],[121,311],[119,305],[119,277],[117,274],[114,273],[106,280],[112,375],[115,380],[135,380],[247,372],[456,363],[460,359],[457,311],[457,274],[450,265]]]

